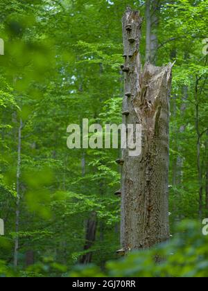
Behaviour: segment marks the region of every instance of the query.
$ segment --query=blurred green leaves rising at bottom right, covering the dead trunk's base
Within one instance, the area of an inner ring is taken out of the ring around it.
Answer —
[[[208,236],[203,236],[201,226],[195,221],[184,221],[170,242],[142,252],[135,252],[119,261],[110,261],[105,274],[91,265],[78,266],[71,276],[112,277],[207,277]],[[164,258],[155,264],[155,256]]]

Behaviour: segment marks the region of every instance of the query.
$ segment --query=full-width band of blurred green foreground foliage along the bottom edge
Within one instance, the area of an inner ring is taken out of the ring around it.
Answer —
[[[44,258],[40,263],[25,271],[14,273],[10,267],[0,262],[0,276],[71,276],[71,277],[207,277],[208,236],[202,235],[202,226],[196,221],[182,222],[176,229],[174,238],[154,249],[135,252],[125,258],[110,261],[101,270],[96,265],[77,265],[73,272],[55,263],[52,258]],[[1,247],[6,247],[6,243]],[[163,258],[155,263],[155,257]]]

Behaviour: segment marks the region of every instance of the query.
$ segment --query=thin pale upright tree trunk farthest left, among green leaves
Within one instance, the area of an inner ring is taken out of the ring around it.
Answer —
[[[18,254],[19,254],[19,211],[20,211],[20,175],[21,175],[21,130],[22,121],[19,122],[18,132],[18,149],[17,149],[17,200],[16,200],[16,219],[15,219],[15,253],[14,253],[14,267],[18,266]]]

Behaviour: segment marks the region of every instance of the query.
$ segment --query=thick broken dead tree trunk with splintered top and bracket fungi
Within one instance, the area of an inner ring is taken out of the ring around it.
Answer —
[[[122,152],[122,252],[144,249],[169,238],[168,123],[172,64],[141,69],[139,42],[142,19],[128,9],[123,17],[125,96],[123,123],[141,124],[142,151]]]

